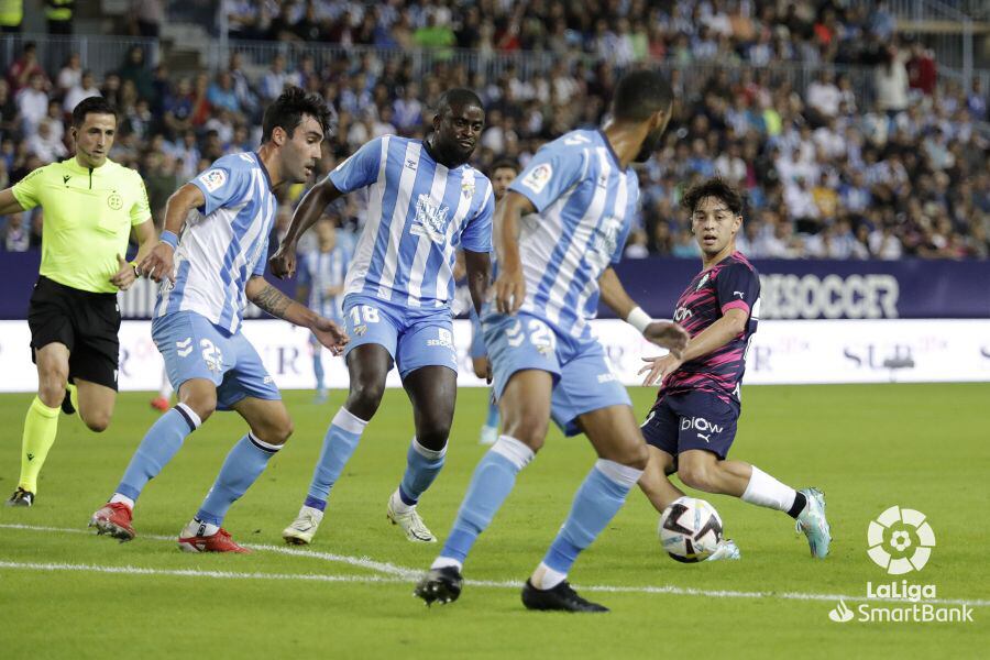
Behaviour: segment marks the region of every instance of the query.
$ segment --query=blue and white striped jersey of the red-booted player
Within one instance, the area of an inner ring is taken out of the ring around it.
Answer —
[[[217,160],[189,182],[206,201],[186,221],[175,252],[175,285],[158,289],[155,316],[195,311],[237,332],[248,280],[265,272],[277,201],[255,153]]]

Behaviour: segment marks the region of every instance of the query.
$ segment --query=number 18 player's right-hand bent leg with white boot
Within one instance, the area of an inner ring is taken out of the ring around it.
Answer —
[[[446,366],[424,366],[407,373],[403,385],[413,402],[416,438],[406,453],[403,481],[388,498],[386,516],[408,540],[435,543],[437,537],[422,521],[417,504],[443,469],[458,396],[458,374]]]

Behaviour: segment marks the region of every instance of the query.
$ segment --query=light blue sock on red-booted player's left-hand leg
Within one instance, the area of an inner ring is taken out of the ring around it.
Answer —
[[[186,404],[176,404],[152,425],[131,458],[117,493],[136,502],[141,491],[178,452],[186,436],[199,428],[199,416]]]

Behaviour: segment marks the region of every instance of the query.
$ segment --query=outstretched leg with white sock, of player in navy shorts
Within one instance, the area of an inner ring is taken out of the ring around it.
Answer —
[[[678,462],[678,474],[685,485],[784,512],[796,520],[798,531],[807,537],[812,557],[824,559],[828,554],[832,529],[825,518],[825,495],[817,488],[795,491],[756,465],[719,461],[704,450],[684,451]]]

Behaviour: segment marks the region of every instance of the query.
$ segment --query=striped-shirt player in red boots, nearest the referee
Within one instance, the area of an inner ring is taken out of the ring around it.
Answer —
[[[90,526],[99,534],[134,538],[132,512],[147,482],[213,410],[237,410],[251,431],[231,449],[178,543],[190,552],[246,552],[220,526],[293,426],[272,376],[240,332],[244,305],[251,300],[309,328],[331,351],[346,343],[337,323],[262,277],[275,223],[274,190],[312,175],[329,114],[319,96],[287,89],[265,110],[256,153],[219,158],[168,199],[162,241],[138,268],[162,282],[152,339],[179,403],[148,429],[113,497],[94,514]],[[187,222],[194,209],[199,212]]]

